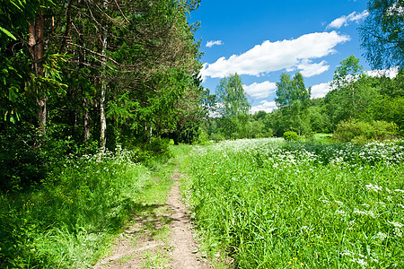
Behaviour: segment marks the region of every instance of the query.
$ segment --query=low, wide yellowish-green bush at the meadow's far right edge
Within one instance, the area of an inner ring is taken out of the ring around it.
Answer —
[[[338,124],[333,138],[340,142],[368,143],[370,141],[391,140],[397,137],[398,126],[385,121],[371,123],[349,120]]]

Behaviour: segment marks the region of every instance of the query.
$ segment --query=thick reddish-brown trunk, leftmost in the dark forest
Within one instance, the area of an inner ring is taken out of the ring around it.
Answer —
[[[31,72],[36,76],[43,76],[43,37],[44,37],[45,23],[43,12],[37,14],[35,21],[31,21],[28,26],[28,50],[31,58]],[[34,82],[35,83],[35,82]],[[36,85],[34,85],[36,87]],[[45,92],[40,92],[42,89],[36,89],[37,97],[37,117],[41,134],[46,134],[47,124],[47,96]]]

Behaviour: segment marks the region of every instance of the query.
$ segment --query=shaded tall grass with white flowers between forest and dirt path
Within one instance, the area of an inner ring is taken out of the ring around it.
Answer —
[[[132,152],[70,158],[35,192],[0,196],[1,268],[85,268],[154,184]]]

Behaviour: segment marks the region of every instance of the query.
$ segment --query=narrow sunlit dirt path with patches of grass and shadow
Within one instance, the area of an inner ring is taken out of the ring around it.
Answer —
[[[192,237],[192,226],[181,201],[181,177],[185,175],[171,175],[174,186],[167,203],[143,204],[147,210],[127,224],[113,254],[93,268],[211,268],[198,253]]]

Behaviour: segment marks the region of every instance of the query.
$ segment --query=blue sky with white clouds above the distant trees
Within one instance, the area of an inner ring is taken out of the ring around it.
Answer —
[[[251,112],[271,111],[280,74],[301,72],[312,97],[329,91],[334,71],[347,56],[360,59],[358,26],[367,0],[202,0],[190,22],[199,21],[203,85],[212,93],[224,75],[240,74]]]

